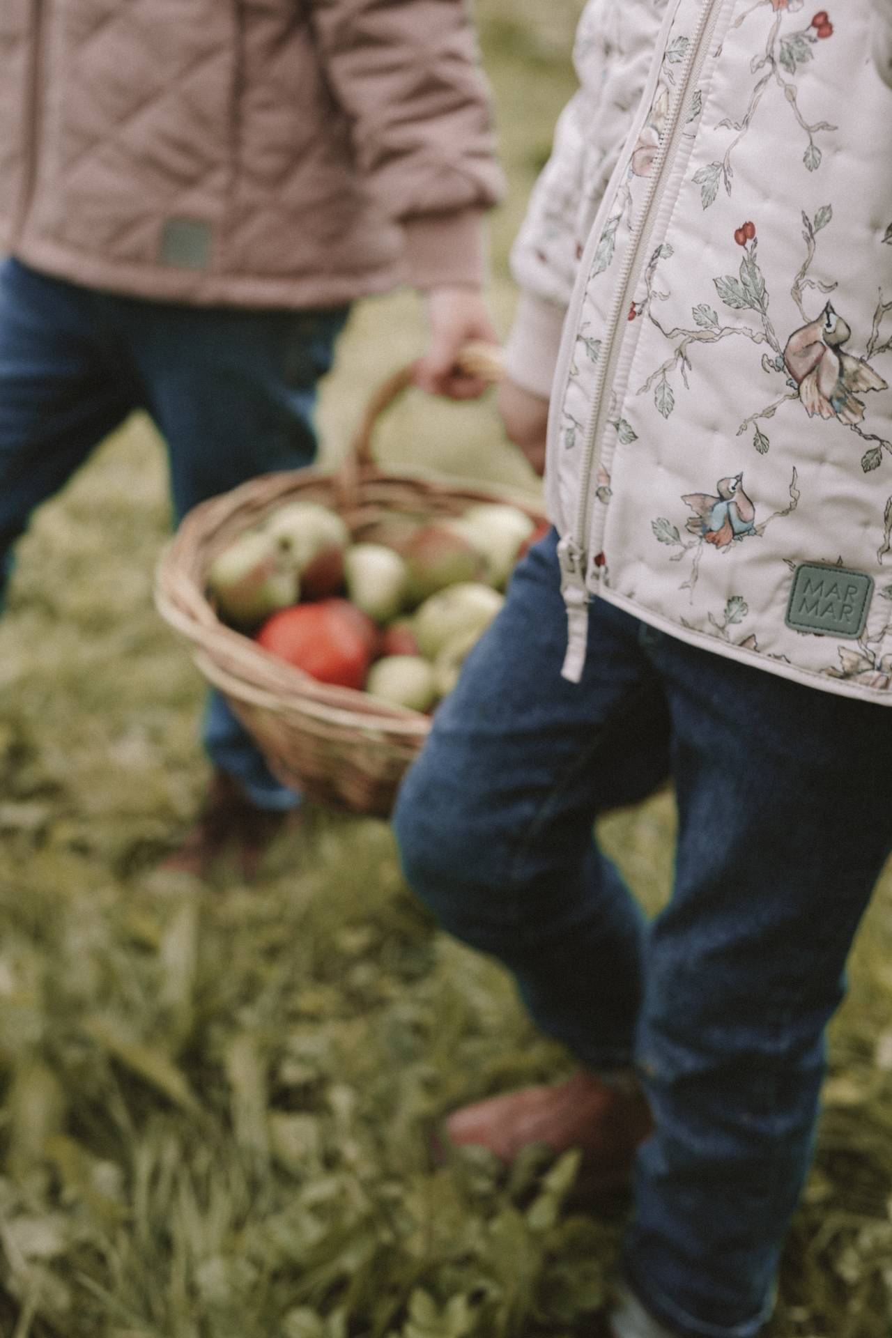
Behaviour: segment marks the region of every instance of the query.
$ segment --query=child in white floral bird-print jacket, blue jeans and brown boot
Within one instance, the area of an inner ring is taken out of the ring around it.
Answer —
[[[397,808],[409,882],[582,1065],[452,1139],[634,1175],[617,1338],[770,1314],[892,848],[891,25],[880,0],[587,5],[503,391],[534,462],[548,417],[555,530]],[[591,831],[670,777],[646,923]]]

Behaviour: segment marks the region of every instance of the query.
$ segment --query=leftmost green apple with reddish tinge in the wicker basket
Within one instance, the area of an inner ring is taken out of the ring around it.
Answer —
[[[278,542],[249,530],[211,562],[207,587],[226,622],[251,628],[297,603],[300,579]]]

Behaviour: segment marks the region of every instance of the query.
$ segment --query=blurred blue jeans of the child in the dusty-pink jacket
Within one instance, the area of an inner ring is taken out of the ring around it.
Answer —
[[[310,464],[317,383],[346,314],[148,302],[0,265],[0,597],[33,508],[134,409],[167,442],[177,519],[258,474]],[[297,803],[217,694],[203,733],[255,804]]]

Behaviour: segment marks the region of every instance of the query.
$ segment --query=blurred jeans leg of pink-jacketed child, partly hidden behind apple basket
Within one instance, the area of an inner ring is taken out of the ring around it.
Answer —
[[[174,514],[247,479],[316,459],[317,385],[346,308],[257,312],[122,300],[119,318],[164,436]],[[214,765],[258,808],[298,796],[270,772],[226,701],[210,693],[203,740]]]

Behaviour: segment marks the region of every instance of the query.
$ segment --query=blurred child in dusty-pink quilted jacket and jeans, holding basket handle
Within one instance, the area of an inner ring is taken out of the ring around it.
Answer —
[[[7,0],[0,9],[0,570],[132,409],[174,511],[309,464],[349,304],[428,294],[419,381],[477,393],[481,215],[500,191],[461,0]],[[179,854],[253,866],[296,804],[221,698]]]

